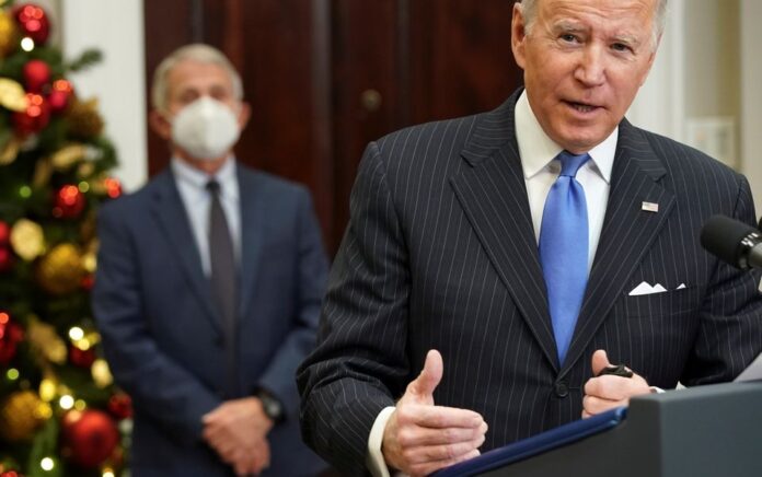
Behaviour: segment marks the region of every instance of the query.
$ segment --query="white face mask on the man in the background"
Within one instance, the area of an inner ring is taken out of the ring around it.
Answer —
[[[227,105],[201,96],[172,120],[172,141],[198,160],[215,160],[238,141],[239,124]]]

